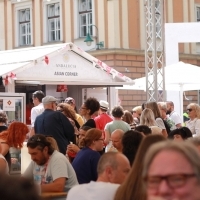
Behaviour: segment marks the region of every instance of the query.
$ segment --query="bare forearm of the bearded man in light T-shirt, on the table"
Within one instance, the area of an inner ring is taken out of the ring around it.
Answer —
[[[57,178],[52,183],[41,185],[41,192],[63,192],[65,187],[65,177]]]

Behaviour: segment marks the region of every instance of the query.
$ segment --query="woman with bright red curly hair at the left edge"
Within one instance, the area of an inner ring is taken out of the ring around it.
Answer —
[[[21,149],[28,132],[29,129],[26,124],[22,122],[12,122],[7,130],[0,133],[1,153],[6,158],[9,166],[11,165],[9,148],[14,147]]]

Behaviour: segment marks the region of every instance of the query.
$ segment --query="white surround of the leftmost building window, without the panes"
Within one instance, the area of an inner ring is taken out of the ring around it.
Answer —
[[[30,10],[30,36],[31,41],[30,44],[20,45],[20,23],[19,23],[19,11],[20,10]],[[24,47],[24,46],[32,46],[33,45],[33,20],[32,20],[32,2],[21,2],[20,4],[14,4],[15,10],[15,47]]]

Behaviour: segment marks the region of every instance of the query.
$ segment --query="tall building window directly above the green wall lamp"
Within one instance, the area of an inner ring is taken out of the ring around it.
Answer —
[[[92,33],[92,0],[79,0],[79,30],[80,37],[85,37],[87,33]]]

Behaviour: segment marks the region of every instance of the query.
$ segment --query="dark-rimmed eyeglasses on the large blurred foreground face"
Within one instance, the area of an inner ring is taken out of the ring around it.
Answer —
[[[170,188],[180,188],[184,186],[189,178],[195,177],[195,174],[173,174],[168,176],[147,176],[144,181],[149,189],[158,189],[160,183],[165,180]]]

